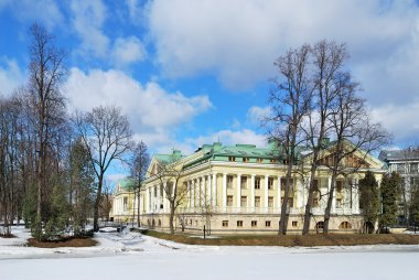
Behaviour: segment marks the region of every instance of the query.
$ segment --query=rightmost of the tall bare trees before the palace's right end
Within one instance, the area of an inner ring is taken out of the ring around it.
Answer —
[[[324,212],[324,234],[329,233],[337,176],[348,176],[357,172],[359,168],[365,168],[366,157],[388,143],[389,140],[388,133],[380,125],[372,122],[365,100],[357,97],[358,84],[352,80],[348,73],[342,73],[336,79],[339,91],[329,117],[331,136],[335,141],[333,146],[325,148],[325,152],[330,154],[320,159],[320,164],[326,165],[332,173]],[[358,159],[355,160],[353,155],[356,152],[358,152]]]

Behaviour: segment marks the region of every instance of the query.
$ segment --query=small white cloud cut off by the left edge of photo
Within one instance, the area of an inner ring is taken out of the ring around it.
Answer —
[[[14,60],[0,58],[0,94],[10,95],[19,86],[23,86],[24,82],[25,75]]]

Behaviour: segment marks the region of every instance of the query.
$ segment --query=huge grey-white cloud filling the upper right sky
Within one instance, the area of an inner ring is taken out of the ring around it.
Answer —
[[[368,93],[401,77],[411,95],[419,83],[410,72],[418,68],[418,18],[413,0],[155,0],[149,25],[157,62],[171,77],[211,72],[227,87],[251,87],[275,75],[273,60],[287,49],[326,37],[347,42]]]

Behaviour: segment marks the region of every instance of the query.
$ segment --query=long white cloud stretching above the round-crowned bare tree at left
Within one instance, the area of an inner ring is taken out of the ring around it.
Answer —
[[[141,85],[120,71],[72,68],[65,84],[71,108],[89,110],[116,105],[130,117],[138,139],[155,147],[174,142],[174,130],[212,107],[207,96],[168,93],[157,83]]]

